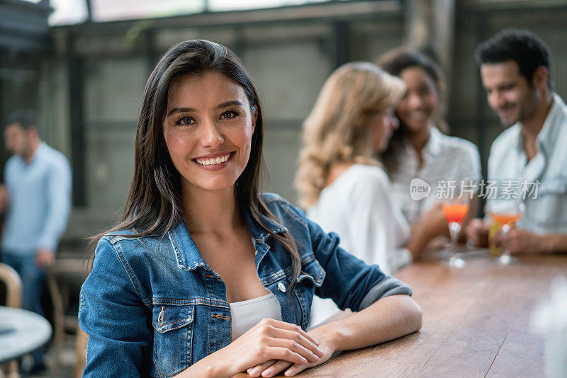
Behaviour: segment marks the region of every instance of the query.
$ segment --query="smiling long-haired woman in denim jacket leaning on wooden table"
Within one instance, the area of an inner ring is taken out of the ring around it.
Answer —
[[[147,81],[123,219],[81,293],[85,377],[292,376],[417,331],[410,288],[259,194],[257,92],[226,47],[172,47]],[[359,311],[306,332],[313,295]]]

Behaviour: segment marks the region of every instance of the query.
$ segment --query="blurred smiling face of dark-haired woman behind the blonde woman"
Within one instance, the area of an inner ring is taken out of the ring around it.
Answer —
[[[400,79],[408,90],[395,109],[395,114],[410,132],[428,130],[439,104],[433,79],[420,67],[403,69]]]

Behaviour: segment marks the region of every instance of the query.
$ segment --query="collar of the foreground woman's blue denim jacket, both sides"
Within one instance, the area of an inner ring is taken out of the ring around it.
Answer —
[[[254,244],[256,241],[264,243],[266,239],[269,237],[269,233],[260,226],[252,217],[249,211],[244,212],[245,220],[248,224],[248,228],[250,234],[252,235],[252,239],[254,239]],[[261,214],[260,218],[264,225],[274,234],[280,234],[281,232],[286,232],[288,229],[283,227],[281,224],[275,222],[274,220],[266,217],[265,215]],[[203,260],[203,256],[201,256],[201,252],[198,250],[195,241],[189,234],[189,230],[185,225],[185,222],[182,218],[179,219],[176,226],[167,232],[167,236],[169,236],[169,241],[172,243],[172,247],[175,253],[175,257],[177,260],[177,266],[183,270],[194,270],[198,267],[202,267],[203,269],[209,270],[213,272],[213,269]],[[257,256],[257,265],[259,260],[263,257],[265,252],[268,251],[269,248],[264,248],[262,256]]]

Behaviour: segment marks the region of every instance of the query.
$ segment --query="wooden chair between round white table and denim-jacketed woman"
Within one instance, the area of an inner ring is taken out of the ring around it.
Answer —
[[[61,350],[65,334],[77,333],[79,319],[69,314],[72,289],[79,289],[86,278],[86,263],[82,258],[63,258],[55,261],[47,274],[47,284],[53,301],[53,364],[52,377],[57,377],[61,365]],[[77,334],[78,336],[78,334]]]

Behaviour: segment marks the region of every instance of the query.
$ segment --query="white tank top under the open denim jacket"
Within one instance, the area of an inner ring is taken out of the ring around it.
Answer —
[[[242,336],[243,333],[255,326],[264,318],[281,321],[281,307],[274,294],[248,299],[230,304],[230,317],[232,326],[231,342]]]

